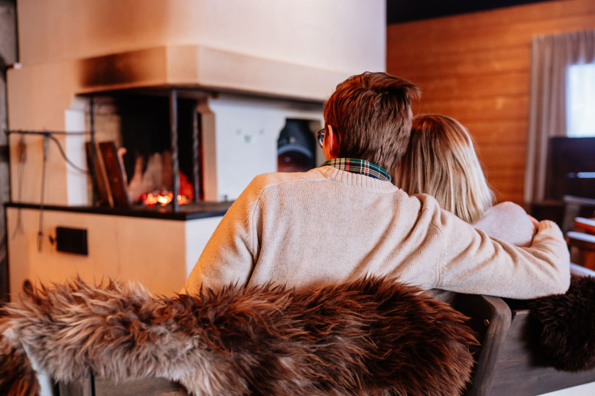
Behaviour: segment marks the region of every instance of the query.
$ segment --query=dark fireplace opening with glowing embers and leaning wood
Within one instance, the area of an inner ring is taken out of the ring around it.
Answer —
[[[203,199],[201,115],[196,112],[196,100],[176,98],[174,107],[170,97],[147,94],[122,94],[100,101],[114,109],[112,114],[117,115],[119,129],[117,141],[99,141],[96,146],[100,205],[151,207],[168,205],[174,199],[178,204]],[[172,172],[172,109],[176,109],[177,115],[174,141],[178,153],[179,192],[176,197]]]

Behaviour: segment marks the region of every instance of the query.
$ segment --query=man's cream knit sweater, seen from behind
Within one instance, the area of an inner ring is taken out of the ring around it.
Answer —
[[[472,294],[529,299],[563,293],[569,255],[562,233],[541,221],[529,248],[475,230],[428,195],[322,166],[257,176],[207,243],[188,293],[274,283],[300,288],[388,275]]]

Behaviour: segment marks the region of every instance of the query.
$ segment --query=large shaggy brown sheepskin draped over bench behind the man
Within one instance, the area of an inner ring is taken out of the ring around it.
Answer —
[[[458,395],[477,341],[419,292],[378,278],[173,298],[114,281],[29,286],[0,316],[0,394],[37,393],[28,356],[57,381],[162,377],[195,395]]]

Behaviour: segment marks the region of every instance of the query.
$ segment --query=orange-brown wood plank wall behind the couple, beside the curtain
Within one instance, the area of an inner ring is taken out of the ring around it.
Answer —
[[[387,72],[422,88],[417,113],[474,136],[499,201],[522,203],[531,37],[595,28],[595,0],[547,1],[387,28]]]

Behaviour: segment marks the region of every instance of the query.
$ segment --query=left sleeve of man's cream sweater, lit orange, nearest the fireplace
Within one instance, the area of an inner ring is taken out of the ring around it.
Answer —
[[[258,255],[255,216],[262,192],[259,180],[250,183],[231,205],[196,262],[182,292],[245,286]]]

